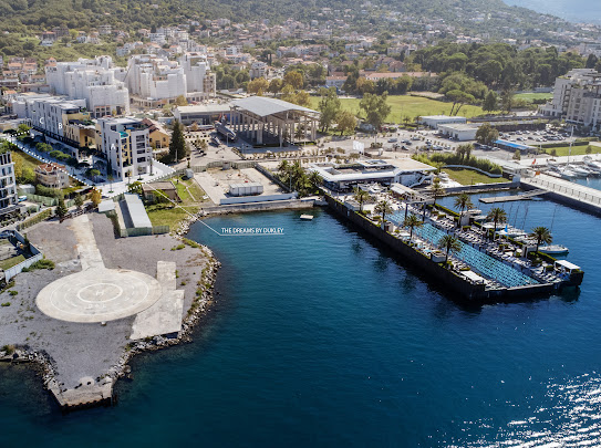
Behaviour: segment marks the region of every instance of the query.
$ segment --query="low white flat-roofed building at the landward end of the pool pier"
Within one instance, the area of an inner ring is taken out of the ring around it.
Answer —
[[[433,166],[412,158],[377,160],[363,159],[353,164],[319,163],[308,168],[318,173],[323,185],[334,191],[352,191],[360,184],[377,183],[385,186],[402,184],[407,187],[423,184],[436,170]]]

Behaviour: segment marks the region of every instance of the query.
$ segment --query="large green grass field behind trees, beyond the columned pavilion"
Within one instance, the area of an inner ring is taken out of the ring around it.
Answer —
[[[311,107],[317,110],[320,102],[319,96],[311,96]],[[342,108],[351,111],[355,115],[360,115],[362,111],[359,108],[360,98],[341,98]],[[425,115],[448,115],[453,103],[444,103],[442,101],[425,98],[423,96],[410,95],[391,95],[388,104],[392,107],[391,114],[386,122],[402,123],[404,116],[408,116],[413,123],[414,118]],[[481,107],[465,105],[459,111],[460,116],[472,117],[484,114]]]

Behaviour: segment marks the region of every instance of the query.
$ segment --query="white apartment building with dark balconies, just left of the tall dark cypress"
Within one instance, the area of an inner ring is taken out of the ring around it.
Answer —
[[[106,156],[107,171],[115,180],[151,173],[148,138],[148,126],[139,119],[100,118],[96,124],[96,148]]]

